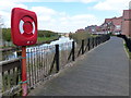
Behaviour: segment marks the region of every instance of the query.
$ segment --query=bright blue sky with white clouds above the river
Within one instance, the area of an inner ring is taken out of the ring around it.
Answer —
[[[37,14],[38,29],[75,32],[121,16],[130,0],[0,0],[3,27],[11,27],[11,11],[23,8]]]

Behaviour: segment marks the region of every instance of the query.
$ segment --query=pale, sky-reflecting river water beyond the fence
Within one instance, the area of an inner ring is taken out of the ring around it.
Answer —
[[[69,37],[64,37],[61,36],[58,40],[51,41],[50,44],[43,44],[40,46],[34,46],[34,47],[28,47],[26,48],[27,57],[31,53],[31,50],[33,50],[34,48],[45,48],[45,50],[48,50],[49,48],[51,48],[52,51],[55,51],[55,45],[59,45],[59,49],[68,49],[72,47],[72,42],[73,39],[70,39]],[[69,46],[70,44],[70,46]],[[68,47],[68,48],[64,48]],[[14,58],[19,58],[16,51],[8,53],[7,56],[3,56],[3,60],[10,60],[10,59],[14,59]]]

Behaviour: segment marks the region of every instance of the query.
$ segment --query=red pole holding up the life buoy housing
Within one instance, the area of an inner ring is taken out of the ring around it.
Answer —
[[[22,46],[22,96],[27,96],[26,46]]]

